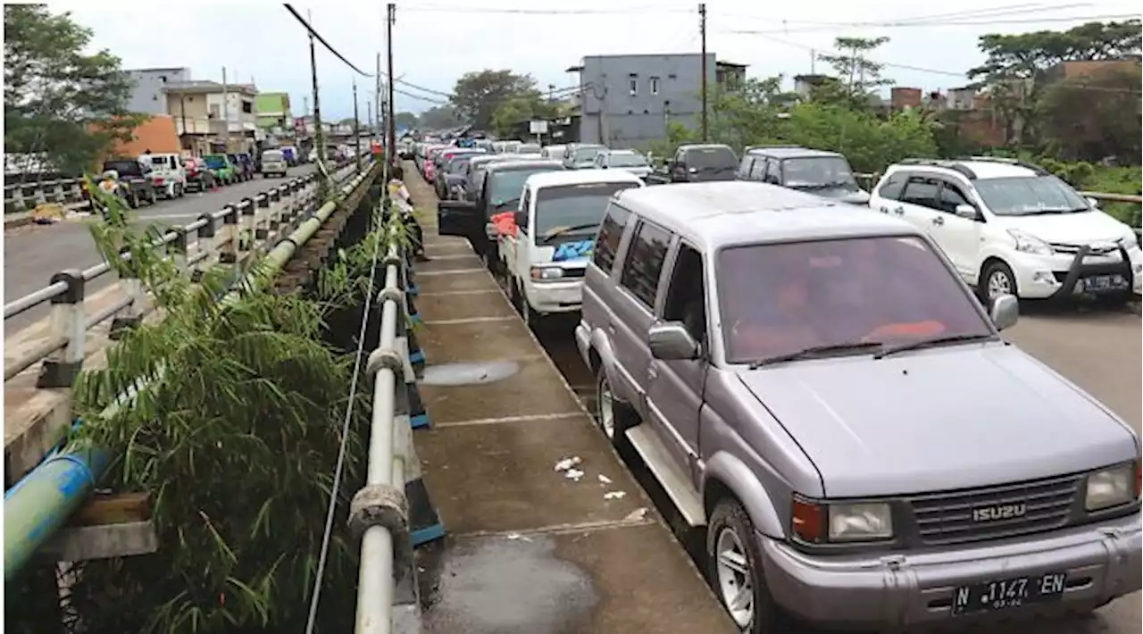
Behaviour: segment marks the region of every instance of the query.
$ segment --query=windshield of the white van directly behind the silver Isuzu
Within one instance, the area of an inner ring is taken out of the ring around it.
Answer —
[[[585,183],[541,187],[536,193],[537,243],[555,235],[594,235],[612,195],[638,186],[636,183]]]

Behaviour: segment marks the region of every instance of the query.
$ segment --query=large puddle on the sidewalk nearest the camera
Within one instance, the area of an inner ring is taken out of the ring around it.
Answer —
[[[588,572],[544,536],[462,540],[422,564],[426,634],[580,632],[599,601]]]

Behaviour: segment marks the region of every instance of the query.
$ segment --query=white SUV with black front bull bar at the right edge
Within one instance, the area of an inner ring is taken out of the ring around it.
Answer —
[[[889,167],[869,204],[928,232],[984,298],[1143,295],[1132,227],[1033,164],[909,159]]]

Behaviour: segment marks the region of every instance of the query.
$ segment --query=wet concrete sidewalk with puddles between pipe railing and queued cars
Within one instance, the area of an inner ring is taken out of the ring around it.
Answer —
[[[425,230],[434,426],[415,438],[449,531],[421,553],[425,632],[737,632],[467,242]],[[567,458],[578,477],[555,468]]]

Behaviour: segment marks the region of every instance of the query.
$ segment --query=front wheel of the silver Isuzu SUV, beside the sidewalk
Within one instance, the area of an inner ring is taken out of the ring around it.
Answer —
[[[773,634],[781,625],[762,570],[754,523],[742,504],[726,497],[706,523],[708,575],[714,595],[744,634]]]

